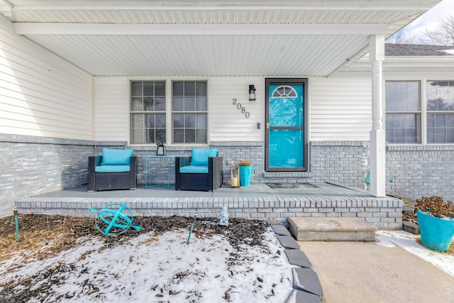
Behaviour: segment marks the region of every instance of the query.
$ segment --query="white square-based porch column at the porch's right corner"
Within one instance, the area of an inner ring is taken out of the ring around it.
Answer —
[[[383,128],[382,61],[384,36],[369,38],[369,62],[372,65],[372,131],[370,131],[370,193],[375,197],[386,194],[386,137]]]

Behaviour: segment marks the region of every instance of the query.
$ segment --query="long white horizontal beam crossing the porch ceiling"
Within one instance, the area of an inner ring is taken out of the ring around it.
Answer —
[[[384,35],[387,24],[14,23],[18,35]]]

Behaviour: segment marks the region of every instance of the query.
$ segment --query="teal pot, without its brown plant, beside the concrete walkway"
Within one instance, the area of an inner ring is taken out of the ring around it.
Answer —
[[[441,219],[418,210],[418,224],[423,246],[438,251],[448,250],[454,236],[454,219]]]

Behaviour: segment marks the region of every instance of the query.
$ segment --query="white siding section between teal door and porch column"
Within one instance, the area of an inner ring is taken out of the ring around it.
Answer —
[[[310,141],[369,141],[370,79],[309,79]]]

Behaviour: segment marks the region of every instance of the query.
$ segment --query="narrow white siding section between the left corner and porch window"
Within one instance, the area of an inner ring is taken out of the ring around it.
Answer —
[[[128,141],[128,78],[95,77],[94,100],[95,140]]]

